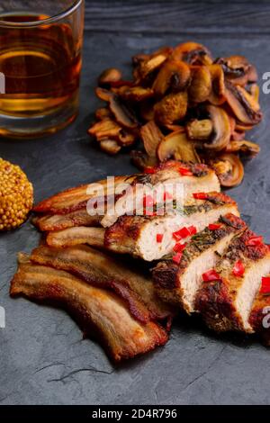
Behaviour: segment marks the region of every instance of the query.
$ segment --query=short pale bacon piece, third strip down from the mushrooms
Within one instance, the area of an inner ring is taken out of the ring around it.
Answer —
[[[103,247],[105,229],[85,228],[84,226],[50,232],[47,237],[49,247],[71,247],[89,244]]]

